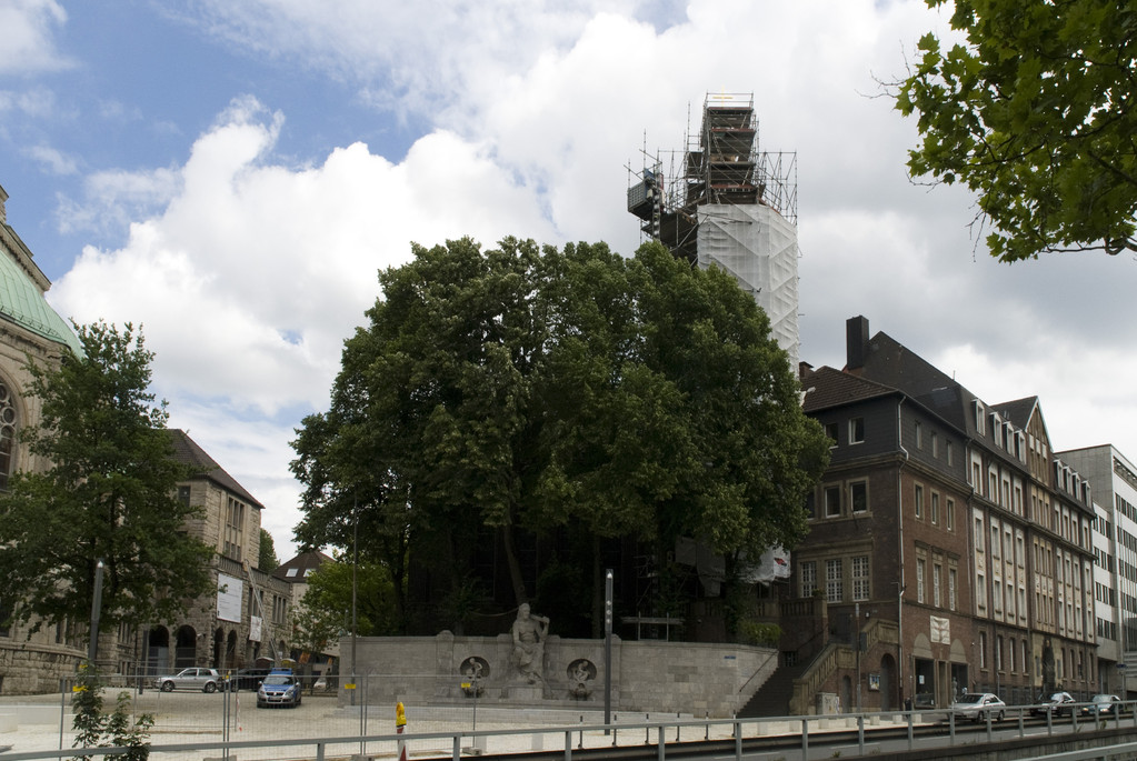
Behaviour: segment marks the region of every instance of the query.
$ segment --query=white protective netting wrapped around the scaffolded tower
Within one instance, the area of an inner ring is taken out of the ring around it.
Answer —
[[[722,267],[754,296],[797,373],[797,228],[762,204],[706,204],[698,212],[699,267]]]

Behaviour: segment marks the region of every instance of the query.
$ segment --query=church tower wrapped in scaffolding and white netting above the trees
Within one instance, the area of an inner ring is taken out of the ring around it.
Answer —
[[[636,175],[628,210],[677,257],[733,275],[796,371],[797,156],[758,151],[753,94],[708,94],[702,129],[687,142],[666,173],[657,154]]]

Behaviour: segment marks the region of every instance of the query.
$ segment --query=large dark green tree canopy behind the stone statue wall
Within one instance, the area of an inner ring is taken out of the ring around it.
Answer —
[[[516,527],[753,557],[804,534],[828,443],[729,275],[656,244],[633,259],[515,239],[414,253],[380,275],[331,409],[298,430],[301,543],[357,532],[392,568],[409,547],[453,569],[457,599],[492,530],[521,602]]]

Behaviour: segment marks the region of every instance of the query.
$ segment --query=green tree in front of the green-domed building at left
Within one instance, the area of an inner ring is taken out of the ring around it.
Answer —
[[[28,366],[41,419],[20,435],[50,467],[0,494],[0,586],[23,620],[85,620],[102,560],[105,625],[167,620],[208,592],[210,550],[183,530],[197,510],[176,499],[188,474],[147,391],[153,356],[130,324],[76,332],[83,356]]]

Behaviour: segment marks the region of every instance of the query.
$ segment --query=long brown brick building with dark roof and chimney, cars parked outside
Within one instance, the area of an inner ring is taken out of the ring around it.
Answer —
[[[1038,400],[989,404],[863,317],[846,328],[844,369],[803,366],[832,457],[765,610],[785,633],[767,684],[794,713],[1094,692],[1090,490]]]

